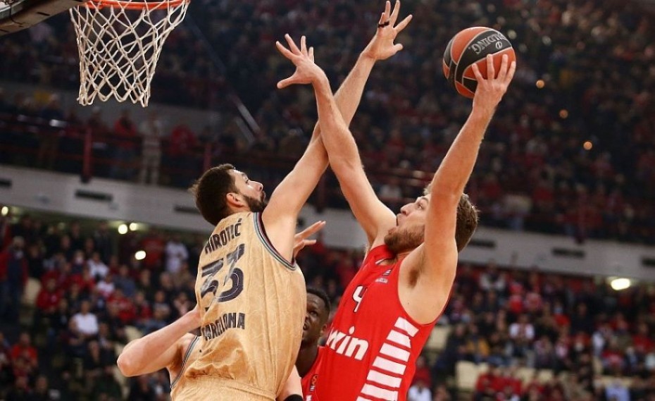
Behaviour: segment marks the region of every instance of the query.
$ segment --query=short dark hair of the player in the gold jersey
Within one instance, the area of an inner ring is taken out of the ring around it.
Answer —
[[[232,164],[212,167],[189,188],[200,214],[213,226],[232,214],[230,206],[227,205],[226,195],[237,192],[235,178],[230,174],[234,169],[235,166]]]

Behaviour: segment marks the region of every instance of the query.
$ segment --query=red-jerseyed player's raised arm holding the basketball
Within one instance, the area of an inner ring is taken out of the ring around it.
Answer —
[[[487,125],[515,70],[516,63],[509,65],[507,56],[503,56],[497,78],[493,78],[492,56],[487,56],[488,79],[482,78],[478,66],[473,65],[478,80],[473,109],[432,178],[425,219],[425,242],[403,262],[400,297],[406,311],[418,323],[436,319],[450,295],[457,267],[455,232],[458,205],[478,159]]]

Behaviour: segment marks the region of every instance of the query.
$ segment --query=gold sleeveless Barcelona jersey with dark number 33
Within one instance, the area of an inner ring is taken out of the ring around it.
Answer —
[[[274,400],[292,371],[306,314],[302,272],[270,244],[261,214],[224,218],[200,257],[200,356],[184,400]]]

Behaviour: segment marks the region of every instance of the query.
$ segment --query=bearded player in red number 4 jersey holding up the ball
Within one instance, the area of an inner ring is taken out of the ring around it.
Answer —
[[[399,31],[398,4],[392,13],[389,8],[375,39],[393,41]],[[337,129],[323,132],[330,166],[370,251],[339,302],[312,401],[406,399],[416,359],[449,299],[458,252],[477,227],[477,211],[463,190],[516,63],[504,57],[497,77],[491,58],[487,68],[489,79],[474,67],[473,109],[425,195],[397,215],[375,196],[344,121],[335,116]]]

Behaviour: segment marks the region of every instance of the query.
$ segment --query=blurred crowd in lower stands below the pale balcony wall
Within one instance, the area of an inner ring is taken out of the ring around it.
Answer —
[[[23,215],[0,220],[0,243],[1,399],[167,399],[163,371],[127,381],[122,393],[116,357],[135,328],[150,333],[194,307],[204,237],[155,228],[119,235],[104,221]],[[298,262],[337,304],[362,257],[319,236]],[[40,284],[33,305],[21,302],[30,281]],[[598,375],[631,378],[631,398],[619,400],[652,400],[654,316],[652,283],[615,292],[592,278],[463,265],[438,323],[450,334],[439,354],[420,359],[413,392],[450,399],[456,364],[470,361],[492,366],[478,381],[480,400],[604,400]],[[512,376],[520,367],[556,378],[522,383]]]

